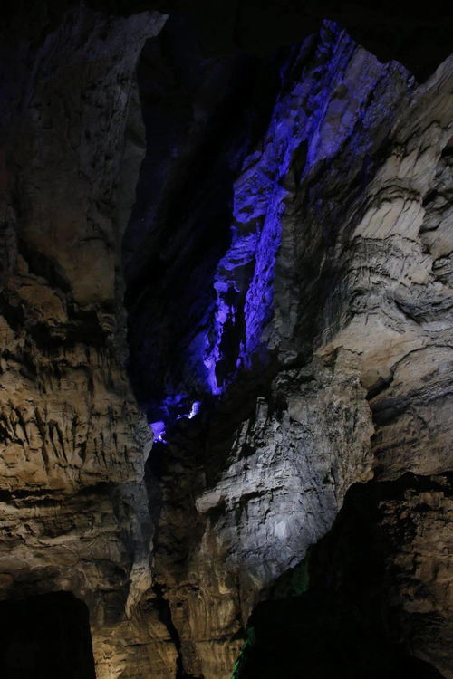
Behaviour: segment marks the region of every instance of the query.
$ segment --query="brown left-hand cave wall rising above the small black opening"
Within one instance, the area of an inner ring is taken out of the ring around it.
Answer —
[[[80,5],[43,42],[4,43],[1,65],[1,598],[82,598],[109,679],[149,585],[152,439],[122,365],[117,274],[143,155],[135,66],[164,21]]]

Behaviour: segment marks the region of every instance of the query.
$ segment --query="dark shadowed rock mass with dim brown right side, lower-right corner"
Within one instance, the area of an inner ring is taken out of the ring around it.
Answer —
[[[432,501],[447,508],[450,493],[447,475],[407,473],[397,482],[354,484],[332,531],[277,580],[269,600],[255,607],[236,676],[439,679],[443,674],[427,662],[434,659],[448,674],[442,658],[449,636],[448,593],[438,590],[433,597],[434,589],[425,583],[432,582],[438,564],[438,587],[448,582],[451,526],[444,523],[444,511],[433,511]],[[434,516],[440,525],[433,525]],[[444,544],[444,554],[433,539]],[[414,558],[423,562],[423,573],[414,568]],[[443,643],[438,646],[439,629]]]

